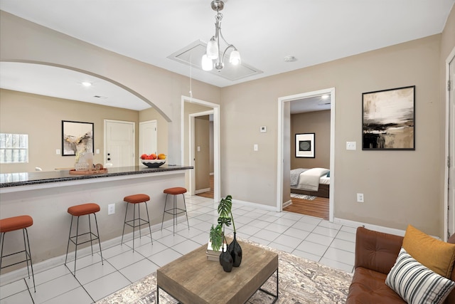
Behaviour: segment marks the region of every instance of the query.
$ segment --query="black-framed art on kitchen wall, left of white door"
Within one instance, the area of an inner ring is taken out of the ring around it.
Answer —
[[[62,120],[62,156],[93,153],[93,122]]]

